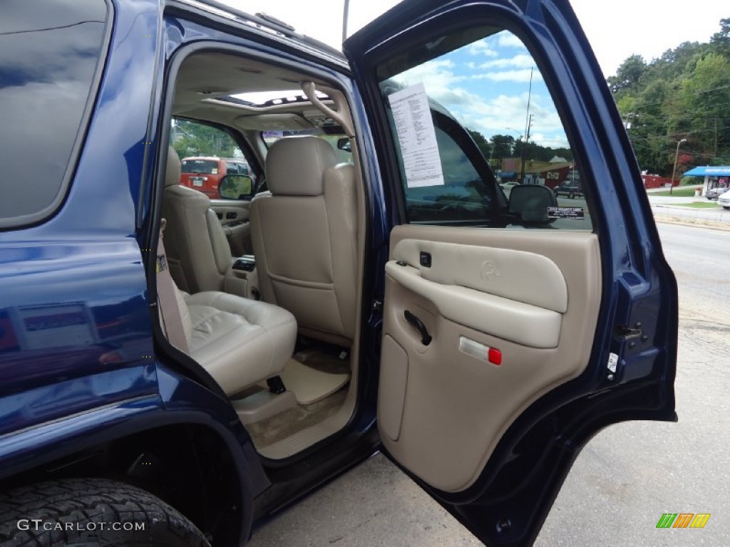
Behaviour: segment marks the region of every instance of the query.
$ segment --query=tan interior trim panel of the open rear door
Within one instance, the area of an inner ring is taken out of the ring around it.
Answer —
[[[395,228],[378,400],[385,448],[436,488],[469,487],[520,413],[585,369],[600,295],[593,233]],[[502,364],[461,351],[462,338],[498,349]]]

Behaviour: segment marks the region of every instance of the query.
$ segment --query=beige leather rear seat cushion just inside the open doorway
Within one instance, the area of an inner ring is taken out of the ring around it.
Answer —
[[[189,353],[226,395],[283,371],[296,341],[288,311],[225,292],[177,294]]]

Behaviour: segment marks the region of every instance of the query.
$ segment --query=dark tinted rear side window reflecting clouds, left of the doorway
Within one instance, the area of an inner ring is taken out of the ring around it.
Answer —
[[[36,222],[63,198],[106,31],[104,0],[3,0],[0,227]]]

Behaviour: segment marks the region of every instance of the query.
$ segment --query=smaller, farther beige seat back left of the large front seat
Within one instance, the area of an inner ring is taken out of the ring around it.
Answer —
[[[167,220],[165,247],[170,274],[185,292],[223,290],[231,265],[231,247],[207,195],[180,186],[180,159],[167,153],[162,216]]]

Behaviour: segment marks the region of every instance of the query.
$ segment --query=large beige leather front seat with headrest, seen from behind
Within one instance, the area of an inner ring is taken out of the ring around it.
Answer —
[[[291,311],[299,331],[349,346],[355,336],[355,168],[314,136],[272,144],[269,192],[251,202],[261,295]]]

